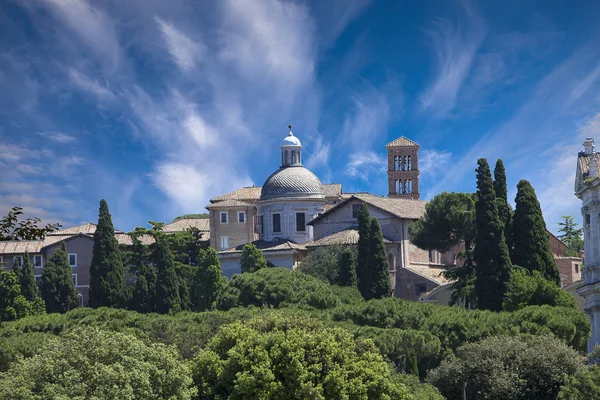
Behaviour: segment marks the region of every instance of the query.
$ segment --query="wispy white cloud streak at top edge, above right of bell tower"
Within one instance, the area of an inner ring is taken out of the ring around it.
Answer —
[[[474,6],[463,2],[463,13],[455,21],[438,19],[425,33],[437,60],[436,77],[421,96],[423,110],[438,118],[456,106],[458,93],[485,38],[485,23]],[[487,71],[486,74],[493,73]]]

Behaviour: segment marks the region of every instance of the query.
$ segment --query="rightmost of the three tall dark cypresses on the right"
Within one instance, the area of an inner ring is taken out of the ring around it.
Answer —
[[[531,184],[522,180],[517,185],[513,218],[513,262],[530,272],[539,271],[549,281],[560,285],[542,208]]]

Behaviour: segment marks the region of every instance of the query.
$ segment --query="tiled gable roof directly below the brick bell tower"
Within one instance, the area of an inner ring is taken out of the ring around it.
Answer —
[[[334,213],[336,209],[342,207],[347,204],[352,199],[358,199],[364,201],[367,204],[370,204],[373,207],[379,208],[383,211],[386,211],[398,218],[403,219],[419,219],[423,214],[425,214],[425,205],[426,201],[423,200],[410,200],[410,199],[400,199],[400,198],[390,198],[390,197],[379,197],[368,193],[355,193],[342,201],[341,203],[336,204],[331,207],[329,210],[325,211],[323,214],[319,215],[312,221],[310,221],[309,225],[314,225],[315,222],[325,218],[331,213]]]

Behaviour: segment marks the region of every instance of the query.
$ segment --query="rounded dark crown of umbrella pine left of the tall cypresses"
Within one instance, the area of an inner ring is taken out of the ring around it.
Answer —
[[[408,227],[410,240],[425,250],[446,252],[475,237],[475,196],[443,192],[425,206],[425,214]]]

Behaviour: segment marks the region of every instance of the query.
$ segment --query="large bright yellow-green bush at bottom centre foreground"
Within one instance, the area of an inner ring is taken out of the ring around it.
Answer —
[[[201,399],[408,399],[370,341],[306,319],[226,326],[194,359]]]

